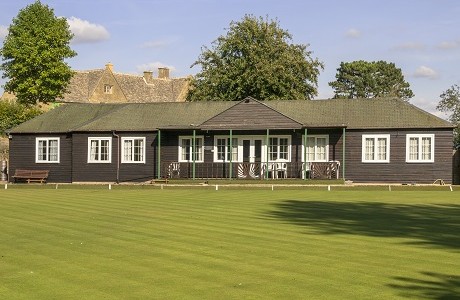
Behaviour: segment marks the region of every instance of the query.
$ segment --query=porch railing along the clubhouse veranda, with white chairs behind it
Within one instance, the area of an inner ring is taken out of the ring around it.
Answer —
[[[230,172],[231,168],[231,172]],[[195,169],[195,174],[193,174]],[[160,177],[182,179],[339,179],[340,162],[195,163],[163,161]]]

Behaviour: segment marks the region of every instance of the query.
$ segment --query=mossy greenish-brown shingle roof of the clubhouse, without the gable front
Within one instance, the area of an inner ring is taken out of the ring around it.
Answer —
[[[392,99],[284,100],[261,102],[305,127],[348,129],[452,128],[453,125],[407,102]],[[12,133],[145,131],[200,128],[240,102],[160,102],[63,104],[14,128]],[[270,120],[267,120],[270,124]],[[260,124],[263,128],[264,124]]]

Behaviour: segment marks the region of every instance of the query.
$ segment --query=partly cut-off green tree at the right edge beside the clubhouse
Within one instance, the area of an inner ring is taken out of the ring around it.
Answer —
[[[440,98],[436,109],[449,114],[449,121],[457,126],[454,129],[454,144],[460,145],[460,86],[454,84]]]

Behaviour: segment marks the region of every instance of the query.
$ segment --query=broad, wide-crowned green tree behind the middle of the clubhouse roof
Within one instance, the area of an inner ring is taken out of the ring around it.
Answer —
[[[228,32],[202,48],[201,71],[193,77],[188,100],[311,99],[323,63],[308,45],[292,44],[278,21],[246,15]]]

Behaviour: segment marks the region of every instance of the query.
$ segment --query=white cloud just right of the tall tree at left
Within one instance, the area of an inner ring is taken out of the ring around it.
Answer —
[[[70,17],[67,22],[69,23],[70,31],[74,34],[72,39],[74,44],[96,43],[107,40],[110,37],[109,32],[102,25],[92,24],[76,17]]]

